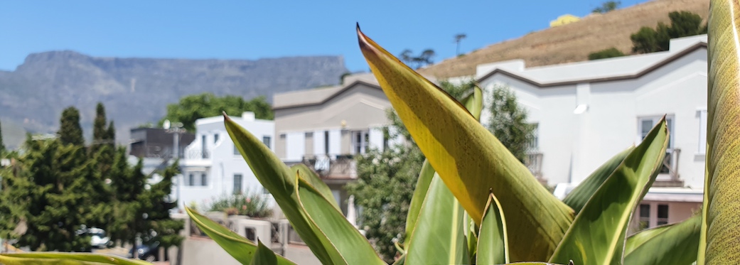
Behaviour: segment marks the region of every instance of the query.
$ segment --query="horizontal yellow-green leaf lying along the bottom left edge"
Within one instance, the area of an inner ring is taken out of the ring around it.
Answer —
[[[62,265],[151,265],[145,261],[129,260],[114,255],[92,253],[32,252],[0,254],[0,264],[62,264]]]

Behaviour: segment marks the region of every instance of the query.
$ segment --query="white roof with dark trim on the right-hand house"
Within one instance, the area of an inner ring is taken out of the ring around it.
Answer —
[[[707,36],[676,38],[671,40],[670,45],[671,49],[665,52],[527,69],[521,60],[482,64],[477,67],[480,76],[477,81],[485,81],[497,73],[536,87],[639,78],[696,50],[706,50]]]

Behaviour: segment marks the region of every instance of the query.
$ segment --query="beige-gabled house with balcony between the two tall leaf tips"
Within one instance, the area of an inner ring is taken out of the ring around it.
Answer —
[[[391,104],[371,74],[347,76],[344,85],[273,98],[275,153],[286,164],[303,163],[320,175],[347,213],[344,185],[357,179],[354,155],[383,150]]]

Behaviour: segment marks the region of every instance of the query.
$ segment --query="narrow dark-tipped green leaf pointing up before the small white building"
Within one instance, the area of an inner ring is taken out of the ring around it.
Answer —
[[[257,180],[275,197],[277,205],[306,245],[322,264],[346,264],[342,254],[326,235],[306,217],[298,204],[297,177],[262,141],[224,115],[226,131],[241,152],[244,161],[255,172]],[[329,203],[331,204],[331,203]],[[331,208],[334,208],[333,206]]]

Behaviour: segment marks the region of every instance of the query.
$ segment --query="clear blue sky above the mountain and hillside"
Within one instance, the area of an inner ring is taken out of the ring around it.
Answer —
[[[622,1],[628,7],[643,0]],[[437,52],[434,61],[542,30],[565,13],[585,16],[602,0],[562,1],[2,1],[0,70],[29,53],[258,59],[344,56],[366,71],[355,22],[391,53]]]

